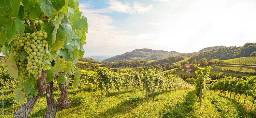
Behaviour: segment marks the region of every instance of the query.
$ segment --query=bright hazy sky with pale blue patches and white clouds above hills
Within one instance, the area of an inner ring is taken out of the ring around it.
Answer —
[[[256,42],[255,0],[79,0],[89,30],[85,55],[139,48],[198,52]]]

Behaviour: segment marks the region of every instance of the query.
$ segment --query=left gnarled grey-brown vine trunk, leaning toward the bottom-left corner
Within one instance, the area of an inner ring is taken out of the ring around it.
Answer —
[[[29,113],[31,112],[32,108],[34,107],[35,103],[37,102],[38,98],[40,98],[44,91],[46,90],[46,75],[47,71],[43,70],[41,77],[38,79],[38,94],[33,98],[27,99],[27,102],[19,107],[17,112],[14,113],[14,118],[28,118]]]

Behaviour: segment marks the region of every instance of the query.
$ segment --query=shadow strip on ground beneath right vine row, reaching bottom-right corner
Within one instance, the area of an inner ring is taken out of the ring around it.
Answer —
[[[256,113],[255,111],[247,111],[245,107],[243,107],[243,104],[241,104],[240,102],[236,101],[236,100],[233,100],[233,99],[230,99],[229,97],[225,97],[225,96],[222,96],[220,94],[218,94],[219,97],[222,97],[230,102],[232,102],[232,104],[234,105],[234,107],[236,107],[236,111],[238,111],[238,115],[239,116],[244,116],[245,114],[248,114],[249,116],[252,116],[253,118],[256,117]]]

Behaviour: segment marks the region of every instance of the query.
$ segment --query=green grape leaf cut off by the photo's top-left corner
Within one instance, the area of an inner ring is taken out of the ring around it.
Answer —
[[[12,10],[11,14],[12,15],[17,15],[19,12],[19,5],[20,1],[22,0],[1,0],[0,1],[0,6],[9,6],[9,8]]]

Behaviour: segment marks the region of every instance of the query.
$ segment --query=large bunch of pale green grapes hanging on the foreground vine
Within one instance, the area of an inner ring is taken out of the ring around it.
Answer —
[[[39,79],[44,67],[45,60],[51,60],[50,54],[45,52],[47,33],[40,30],[35,33],[26,33],[23,36],[15,37],[12,51],[17,67],[22,72],[23,82],[25,83],[30,73],[35,79]],[[24,49],[23,49],[24,48]],[[27,58],[22,58],[22,50],[28,53]]]

